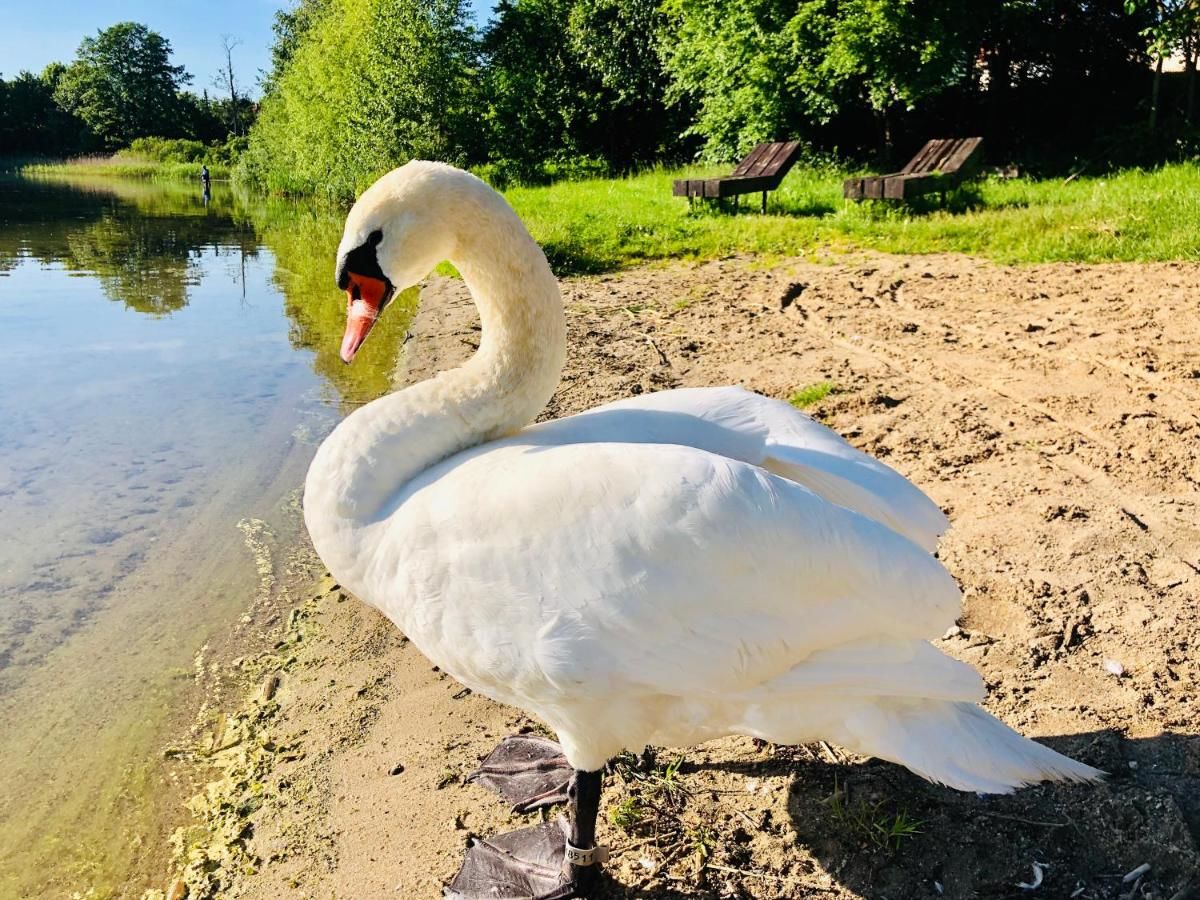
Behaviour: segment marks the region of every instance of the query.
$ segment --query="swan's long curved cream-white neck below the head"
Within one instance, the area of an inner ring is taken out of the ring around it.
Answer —
[[[305,485],[305,521],[322,558],[370,524],[414,475],[530,421],[558,385],[566,353],[563,302],[546,258],[506,204],[473,205],[450,262],[482,324],[475,355],[458,368],[382,397],[325,439]]]

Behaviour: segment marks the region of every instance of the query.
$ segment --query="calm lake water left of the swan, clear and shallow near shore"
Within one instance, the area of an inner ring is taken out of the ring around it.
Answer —
[[[340,232],[220,184],[0,180],[0,896],[162,887],[162,749],[258,589],[246,523],[288,540],[401,361],[402,316],[337,359]]]

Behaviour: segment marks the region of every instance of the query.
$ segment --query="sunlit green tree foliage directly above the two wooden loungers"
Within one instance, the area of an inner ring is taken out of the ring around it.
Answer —
[[[667,0],[670,96],[698,108],[691,132],[728,160],[869,110],[886,148],[894,119],[972,77],[972,5],[961,0]]]

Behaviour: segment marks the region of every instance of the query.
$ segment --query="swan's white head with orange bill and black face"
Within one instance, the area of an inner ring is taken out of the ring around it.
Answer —
[[[456,194],[480,188],[492,193],[474,175],[414,160],[359,197],[337,247],[337,287],[347,296],[343,361],[354,359],[392,296],[454,254]]]

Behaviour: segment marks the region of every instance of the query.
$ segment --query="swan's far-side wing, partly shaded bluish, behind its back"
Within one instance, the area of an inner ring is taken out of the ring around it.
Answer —
[[[949,523],[911,481],[779,400],[742,388],[643,394],[536,426],[564,439],[677,443],[773,472],[882,522],[926,551]]]

